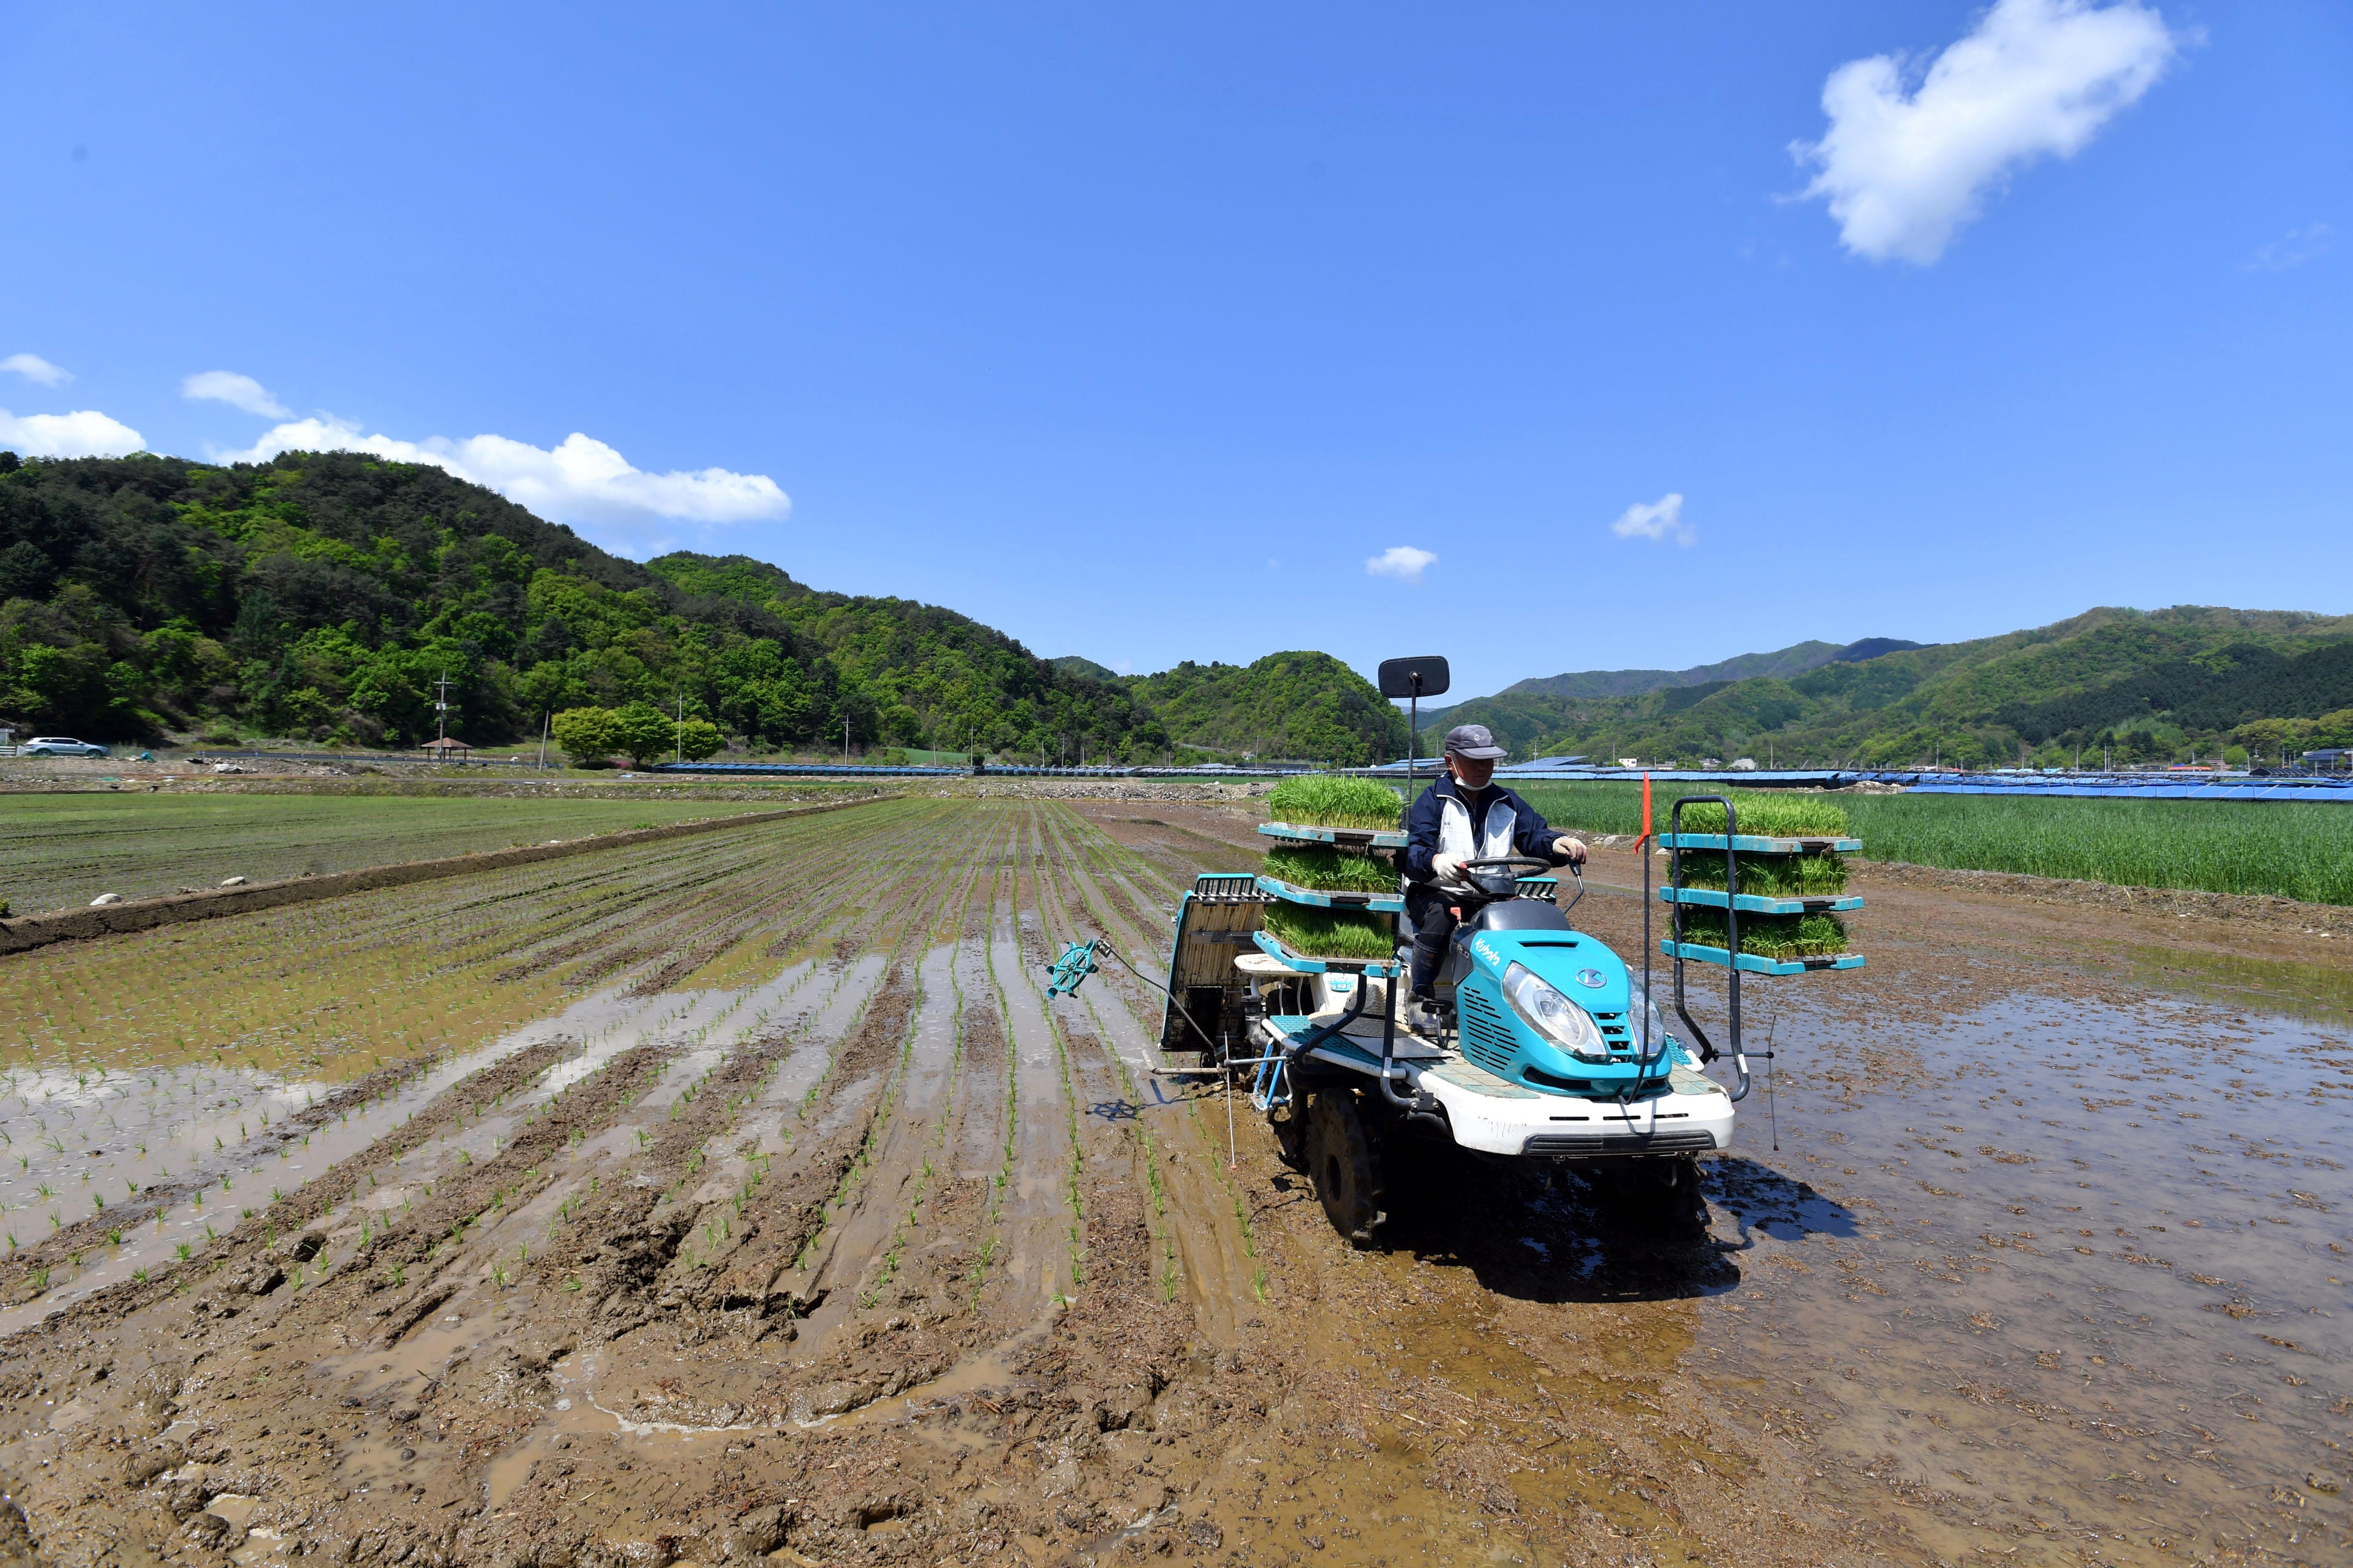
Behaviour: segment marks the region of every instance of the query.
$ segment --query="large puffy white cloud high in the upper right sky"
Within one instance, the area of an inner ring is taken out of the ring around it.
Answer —
[[[1831,73],[1831,129],[1791,146],[1819,167],[1805,195],[1831,202],[1857,256],[1929,266],[1988,190],[2038,158],[2080,153],[2188,40],[2139,0],[1998,0],[1908,94],[1892,54]]]

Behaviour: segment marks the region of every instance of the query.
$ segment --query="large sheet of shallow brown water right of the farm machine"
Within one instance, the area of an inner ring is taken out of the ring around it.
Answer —
[[[2353,1044],[2228,994],[2017,992],[1878,1041],[1777,997],[1781,1152],[1751,1095],[1713,1326],[1937,1552],[1984,1547],[1965,1519],[2019,1563],[2346,1528]],[[1859,1079],[1878,1046],[1918,1070]]]

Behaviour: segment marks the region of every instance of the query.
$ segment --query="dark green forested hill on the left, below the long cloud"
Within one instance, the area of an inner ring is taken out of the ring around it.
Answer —
[[[449,733],[478,745],[631,701],[682,701],[769,748],[840,745],[845,724],[854,745],[1045,757],[1085,736],[1089,757],[1158,759],[1191,738],[1127,682],[953,611],[746,557],[635,564],[438,468],[358,454],[0,454],[0,724],[19,731],[414,743],[447,675]],[[1384,708],[1344,665],[1315,675],[1334,691],[1285,701]]]

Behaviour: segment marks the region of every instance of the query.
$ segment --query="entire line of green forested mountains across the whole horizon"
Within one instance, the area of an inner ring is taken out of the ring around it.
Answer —
[[[1325,654],[1125,677],[1042,661],[955,611],[821,592],[741,555],[628,562],[438,468],[355,454],[0,454],[0,724],[104,741],[414,743],[447,675],[449,731],[478,745],[536,736],[551,710],[682,701],[755,748],[835,748],[847,724],[859,748],[969,736],[1028,757],[1075,757],[1080,738],[1089,759],[1405,750],[1402,715]],[[1687,682],[1699,665],[1633,693],[1522,682],[1426,715],[1421,752],[1459,722],[1520,755],[1784,764],[2353,743],[2353,616],[2094,609],[1880,646],[1798,644],[1744,656],[1795,672]]]

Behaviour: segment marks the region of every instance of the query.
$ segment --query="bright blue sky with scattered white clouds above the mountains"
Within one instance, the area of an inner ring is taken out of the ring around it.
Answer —
[[[19,5],[0,150],[0,444],[1040,654],[2353,611],[2344,5]]]

